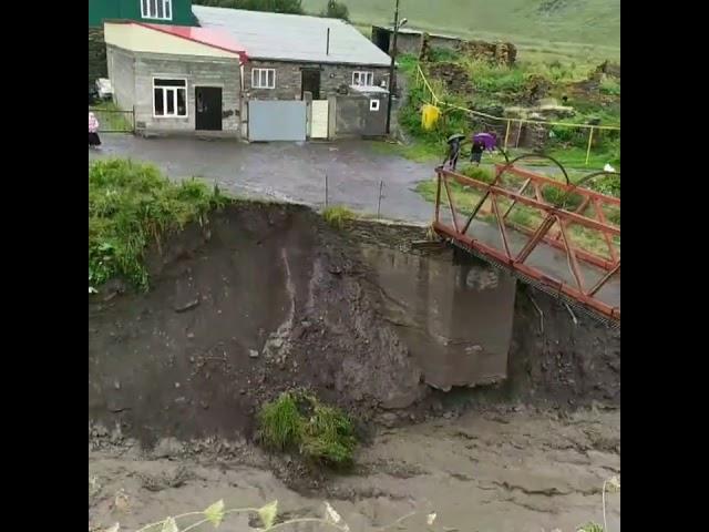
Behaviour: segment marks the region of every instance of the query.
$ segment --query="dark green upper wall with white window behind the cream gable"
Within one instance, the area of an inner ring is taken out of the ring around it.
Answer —
[[[141,3],[171,2],[171,19],[147,19],[141,13]],[[155,24],[198,25],[192,12],[192,0],[89,0],[89,28],[101,28],[106,20],[135,20]]]

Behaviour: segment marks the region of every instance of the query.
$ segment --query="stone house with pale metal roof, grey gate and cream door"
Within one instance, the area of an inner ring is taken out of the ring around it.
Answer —
[[[202,28],[229,34],[248,54],[242,78],[243,136],[265,141],[386,134],[391,58],[352,25],[203,6],[193,12]],[[352,99],[366,102],[351,105]],[[338,100],[348,100],[352,112],[338,113]],[[281,103],[269,103],[274,101]]]

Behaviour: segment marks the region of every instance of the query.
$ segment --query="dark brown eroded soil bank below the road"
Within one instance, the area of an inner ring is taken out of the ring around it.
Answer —
[[[335,232],[305,207],[240,205],[163,244],[150,260],[148,294],[104,287],[89,305],[90,421],[117,423],[144,443],[234,439],[250,434],[258,405],[297,386],[388,424],[471,398],[619,403],[619,331],[582,316],[575,325],[565,307],[535,294],[542,332],[537,309],[520,291],[507,381],[493,390],[431,390],[420,347],[438,339],[423,318],[382,319],[392,307],[378,270],[382,255],[372,262],[367,253],[377,245],[409,254],[424,229],[353,224]],[[411,342],[403,329],[422,340]]]

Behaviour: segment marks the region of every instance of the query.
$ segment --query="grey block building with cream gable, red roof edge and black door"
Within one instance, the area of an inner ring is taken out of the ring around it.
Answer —
[[[246,52],[228,34],[144,22],[104,25],[116,104],[143,134],[238,136]]]

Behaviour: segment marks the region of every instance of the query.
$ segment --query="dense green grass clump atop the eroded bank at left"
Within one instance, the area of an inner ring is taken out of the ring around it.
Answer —
[[[122,277],[147,288],[152,241],[199,219],[226,198],[191,180],[172,183],[155,166],[102,160],[89,166],[89,285]]]

